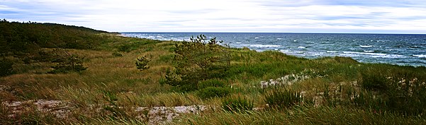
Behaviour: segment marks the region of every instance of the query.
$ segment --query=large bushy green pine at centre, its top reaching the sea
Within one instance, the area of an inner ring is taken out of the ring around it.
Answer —
[[[184,87],[184,90],[198,89],[198,82],[211,78],[223,78],[229,67],[230,58],[215,38],[207,41],[205,35],[191,37],[190,42],[175,44],[176,62],[173,79],[169,85]]]

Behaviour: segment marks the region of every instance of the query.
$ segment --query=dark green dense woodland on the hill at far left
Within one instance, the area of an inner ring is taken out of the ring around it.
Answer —
[[[1,55],[33,54],[40,48],[96,49],[101,30],[55,23],[19,23],[0,20]]]

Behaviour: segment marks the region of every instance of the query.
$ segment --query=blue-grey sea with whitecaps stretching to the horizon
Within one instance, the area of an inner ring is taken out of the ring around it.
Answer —
[[[230,47],[259,52],[274,50],[308,59],[347,56],[360,62],[426,66],[426,35],[329,33],[196,33],[123,32],[126,37],[189,41],[191,36],[216,37]]]

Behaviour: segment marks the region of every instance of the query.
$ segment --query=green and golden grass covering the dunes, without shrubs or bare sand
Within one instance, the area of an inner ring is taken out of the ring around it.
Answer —
[[[83,66],[88,69],[81,73],[49,74],[50,67],[54,66],[50,62],[26,64],[8,57],[14,62],[15,74],[0,78],[0,85],[6,86],[0,86],[1,102],[67,100],[76,109],[65,119],[40,115],[43,113],[34,109],[10,118],[10,109],[2,105],[0,124],[147,124],[144,119],[135,117],[138,114],[132,108],[186,105],[211,105],[215,109],[201,114],[183,114],[170,124],[426,122],[425,67],[364,64],[347,57],[303,59],[281,52],[230,48],[231,62],[224,72],[226,76],[201,81],[198,88],[206,90],[181,93],[164,84],[167,69],[176,66],[173,53],[176,42],[110,34],[100,37],[103,40],[97,49],[65,49],[69,54],[84,57]],[[135,59],[140,56],[150,56],[151,61],[147,63],[150,69],[140,71],[136,68]],[[261,88],[260,81],[292,74],[309,78],[293,85]],[[291,93],[274,95],[272,92],[276,89]],[[123,107],[120,110],[126,115],[113,116],[111,112],[116,110],[101,108],[111,105],[105,92],[115,97],[113,102],[117,109]],[[224,102],[238,97],[247,100],[247,105],[260,109],[246,113],[223,109]],[[291,107],[286,106],[288,102]],[[286,108],[267,108],[267,104]],[[92,109],[95,107],[101,108],[101,112],[95,112]]]

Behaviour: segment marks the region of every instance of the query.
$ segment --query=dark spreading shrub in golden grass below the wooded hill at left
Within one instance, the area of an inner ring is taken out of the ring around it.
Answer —
[[[65,56],[62,59],[55,61],[56,66],[52,66],[53,70],[49,73],[69,73],[69,72],[81,72],[87,69],[83,66],[84,58],[72,54]]]

